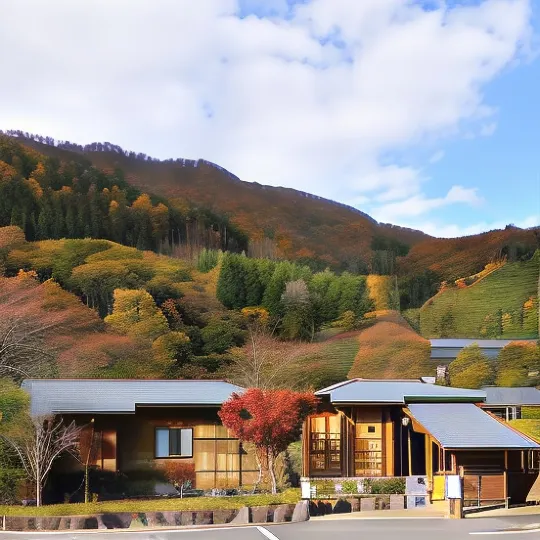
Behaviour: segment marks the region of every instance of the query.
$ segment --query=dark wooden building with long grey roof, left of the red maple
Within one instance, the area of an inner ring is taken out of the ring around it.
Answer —
[[[194,468],[197,489],[252,485],[255,457],[218,416],[243,389],[224,381],[61,380],[23,383],[34,416],[61,415],[83,427],[81,460],[129,479],[176,460]],[[60,468],[80,468],[64,461]]]

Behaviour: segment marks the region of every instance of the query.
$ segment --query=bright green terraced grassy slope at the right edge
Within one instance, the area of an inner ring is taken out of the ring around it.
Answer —
[[[538,273],[538,257],[534,257],[505,264],[469,287],[443,290],[422,306],[421,334],[431,338],[537,337],[537,308],[529,309],[523,320],[523,305],[537,297]]]

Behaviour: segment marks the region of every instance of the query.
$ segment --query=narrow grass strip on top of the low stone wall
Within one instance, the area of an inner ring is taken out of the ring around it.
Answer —
[[[110,512],[165,512],[182,510],[236,510],[243,506],[295,504],[300,490],[287,489],[277,495],[247,495],[239,497],[189,497],[185,499],[149,499],[106,501],[80,504],[52,504],[40,508],[28,506],[0,506],[2,516],[82,516]]]

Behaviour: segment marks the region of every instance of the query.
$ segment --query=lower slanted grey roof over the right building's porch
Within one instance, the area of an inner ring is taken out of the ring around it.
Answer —
[[[419,403],[409,411],[444,448],[540,448],[472,403]]]

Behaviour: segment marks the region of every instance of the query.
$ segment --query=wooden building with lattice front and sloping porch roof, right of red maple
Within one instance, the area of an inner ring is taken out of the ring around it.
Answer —
[[[482,410],[482,390],[352,379],[316,395],[303,430],[306,478],[425,477],[437,500],[444,476],[462,470],[475,506],[524,502],[538,477],[540,445]]]

